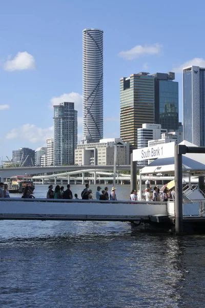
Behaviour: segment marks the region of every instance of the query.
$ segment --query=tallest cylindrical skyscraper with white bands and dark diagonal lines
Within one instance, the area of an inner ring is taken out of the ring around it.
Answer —
[[[83,139],[103,138],[103,31],[83,30]]]

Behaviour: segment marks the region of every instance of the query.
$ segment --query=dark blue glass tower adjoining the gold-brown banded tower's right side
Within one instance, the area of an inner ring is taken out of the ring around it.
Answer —
[[[175,73],[155,73],[155,123],[161,124],[161,128],[177,130],[179,126],[178,111],[178,82]]]

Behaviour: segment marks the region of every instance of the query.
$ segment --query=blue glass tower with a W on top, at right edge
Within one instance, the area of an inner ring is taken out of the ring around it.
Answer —
[[[183,139],[205,146],[205,68],[183,68]]]

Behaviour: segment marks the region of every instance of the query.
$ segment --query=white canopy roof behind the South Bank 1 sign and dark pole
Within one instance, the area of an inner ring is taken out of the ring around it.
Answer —
[[[196,146],[186,140],[180,144]],[[205,154],[187,153],[182,155],[182,171],[184,174],[205,174]],[[157,158],[148,166],[141,169],[141,174],[174,173],[174,157]]]

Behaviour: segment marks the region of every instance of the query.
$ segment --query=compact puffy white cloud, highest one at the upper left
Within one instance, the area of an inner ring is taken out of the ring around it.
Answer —
[[[13,60],[8,59],[4,64],[4,70],[6,71],[25,69],[35,69],[35,59],[27,51],[18,52]]]

